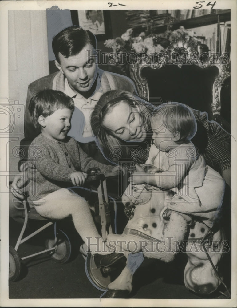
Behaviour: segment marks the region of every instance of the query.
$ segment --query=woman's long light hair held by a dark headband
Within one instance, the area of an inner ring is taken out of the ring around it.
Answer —
[[[109,129],[102,125],[102,122],[105,115],[112,112],[117,103],[120,103],[122,100],[126,101],[129,105],[139,107],[141,124],[147,132],[151,130],[150,115],[154,110],[152,104],[127,91],[112,90],[101,96],[90,118],[91,127],[96,137],[97,147],[105,158],[113,163],[117,163],[118,153],[119,158],[128,158],[130,152],[128,141],[113,136]]]

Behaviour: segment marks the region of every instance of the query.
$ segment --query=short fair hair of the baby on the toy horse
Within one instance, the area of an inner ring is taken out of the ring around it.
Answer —
[[[177,143],[189,142],[197,131],[197,122],[192,109],[181,103],[171,102],[159,105],[151,115],[151,120],[154,121],[154,119],[159,123],[159,127],[162,126],[162,132],[164,132],[164,126],[173,134],[179,132],[180,139]]]

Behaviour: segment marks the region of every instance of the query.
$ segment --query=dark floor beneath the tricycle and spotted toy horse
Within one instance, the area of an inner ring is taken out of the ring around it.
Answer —
[[[35,223],[31,229],[36,227]],[[20,232],[20,225],[10,220],[9,244],[13,247]],[[50,231],[50,230],[49,230]],[[19,246],[21,257],[44,249],[45,237],[49,231],[40,233],[36,239]],[[53,230],[51,230],[53,232]],[[69,230],[73,241],[78,238]],[[76,243],[76,246],[77,246]],[[75,243],[72,243],[75,248]],[[167,265],[158,261],[144,260],[133,276],[133,292],[131,298],[177,298],[200,299],[198,295],[188,291],[183,282],[185,255],[177,256],[176,261]],[[228,275],[227,275],[228,276]],[[226,283],[230,279],[226,277]],[[225,291],[220,287],[221,291]],[[97,290],[85,274],[85,261],[75,251],[72,260],[66,264],[53,262],[46,254],[22,261],[22,274],[18,281],[9,282],[9,298],[100,298],[102,292]],[[203,298],[203,297],[202,297]],[[218,292],[206,298],[225,299]]]

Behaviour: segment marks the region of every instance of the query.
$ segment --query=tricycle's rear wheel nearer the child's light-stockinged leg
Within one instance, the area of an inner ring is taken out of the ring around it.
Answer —
[[[46,249],[55,247],[55,250],[50,252],[51,258],[56,263],[66,263],[71,255],[71,243],[68,236],[61,230],[57,231],[57,242],[54,239],[47,239],[45,242]]]

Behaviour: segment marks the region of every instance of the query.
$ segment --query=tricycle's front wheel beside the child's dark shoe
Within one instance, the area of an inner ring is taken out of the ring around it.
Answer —
[[[104,273],[103,269],[97,268],[94,262],[94,255],[89,252],[86,257],[86,275],[93,286],[103,291],[106,290],[107,286],[121,274],[121,271],[124,269],[125,265],[126,264],[124,262],[118,261],[116,263],[116,268],[114,268],[111,272]]]

